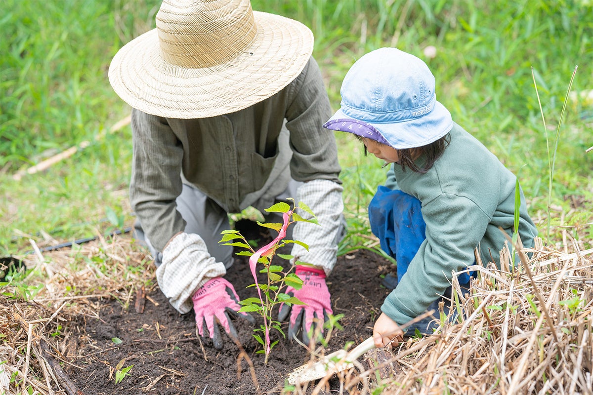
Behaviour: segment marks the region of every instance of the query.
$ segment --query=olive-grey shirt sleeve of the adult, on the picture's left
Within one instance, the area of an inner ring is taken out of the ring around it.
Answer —
[[[157,251],[185,229],[177,211],[183,148],[165,118],[132,110],[130,202]]]

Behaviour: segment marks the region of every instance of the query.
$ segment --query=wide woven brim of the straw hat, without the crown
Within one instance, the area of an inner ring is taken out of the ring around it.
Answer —
[[[257,36],[222,65],[187,68],[165,62],[157,29],[127,43],[111,60],[109,82],[133,108],[165,118],[234,113],[278,93],[304,69],[313,33],[298,21],[253,11]]]

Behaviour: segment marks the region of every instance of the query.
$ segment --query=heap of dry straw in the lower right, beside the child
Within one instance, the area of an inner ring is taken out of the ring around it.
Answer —
[[[350,395],[592,394],[593,249],[572,249],[551,251],[538,239],[512,272],[479,262],[469,293],[453,280],[451,311],[463,320],[451,313],[432,336],[401,344],[391,360],[401,373],[389,380],[353,369],[340,386]],[[501,259],[509,262],[508,250]],[[327,393],[326,381],[313,393]]]

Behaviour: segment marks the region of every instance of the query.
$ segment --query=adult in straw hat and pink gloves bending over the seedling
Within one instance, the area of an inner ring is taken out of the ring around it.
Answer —
[[[297,266],[305,285],[289,290],[307,305],[283,306],[280,318],[289,318],[289,336],[302,327],[307,341],[314,319],[332,313],[325,277],[343,233],[313,34],[248,0],[164,0],[156,23],[117,52],[109,81],[133,108],[130,200],[158,284],[181,313],[193,307],[200,335],[207,329],[221,348],[216,320],[236,335],[228,314],[240,308],[223,277],[232,248],[218,244],[227,214],[295,198],[321,226],[294,227],[292,238],[309,249],[295,245],[292,255],[314,266]]]

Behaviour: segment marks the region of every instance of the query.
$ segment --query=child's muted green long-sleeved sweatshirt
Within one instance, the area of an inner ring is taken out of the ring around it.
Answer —
[[[474,264],[476,247],[484,264],[494,258],[500,266],[506,237],[499,227],[512,236],[515,175],[459,125],[453,124],[449,136],[441,158],[425,174],[402,171],[397,163],[388,173],[386,186],[420,200],[426,222],[426,240],[381,306],[399,325],[424,313],[444,294],[452,272]],[[416,163],[422,166],[425,160]],[[529,248],[537,229],[522,191],[519,212],[519,234]]]

